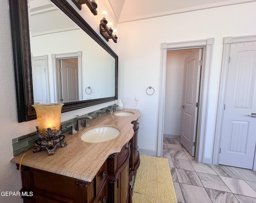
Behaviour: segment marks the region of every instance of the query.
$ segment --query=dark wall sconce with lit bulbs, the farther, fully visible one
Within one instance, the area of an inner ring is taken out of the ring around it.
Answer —
[[[100,20],[100,34],[104,37],[104,39],[108,42],[109,39],[112,39],[115,43],[117,43],[117,29],[115,35],[113,34],[113,19],[106,20],[108,16],[108,10],[104,7],[100,9],[102,20]]]

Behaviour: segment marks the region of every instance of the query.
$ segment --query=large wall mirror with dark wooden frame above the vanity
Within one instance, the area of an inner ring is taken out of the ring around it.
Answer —
[[[66,0],[9,0],[18,121],[31,106],[62,112],[117,99],[118,56]]]

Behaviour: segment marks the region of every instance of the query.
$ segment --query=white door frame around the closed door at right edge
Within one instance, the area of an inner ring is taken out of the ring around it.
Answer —
[[[242,43],[242,42],[253,42],[256,41],[256,35],[248,36],[228,36],[223,38],[223,54],[222,54],[222,65],[221,65],[221,78],[220,78],[220,92],[218,100],[218,111],[217,111],[217,120],[216,120],[216,130],[215,130],[215,139],[214,139],[214,149],[213,149],[213,163],[219,163],[220,157],[220,140],[222,134],[222,123],[224,116],[224,102],[226,96],[226,85],[228,78],[228,62],[230,56],[230,47],[231,44]],[[254,157],[253,170],[256,170],[256,156]]]

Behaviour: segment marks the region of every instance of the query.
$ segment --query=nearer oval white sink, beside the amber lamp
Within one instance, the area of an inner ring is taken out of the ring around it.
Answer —
[[[116,138],[119,130],[114,127],[96,127],[82,134],[82,141],[90,143],[105,142]]]

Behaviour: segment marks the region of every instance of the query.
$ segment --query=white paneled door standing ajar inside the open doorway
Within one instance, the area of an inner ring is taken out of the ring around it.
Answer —
[[[202,49],[196,50],[185,60],[185,80],[182,100],[180,143],[195,155],[196,123],[199,98]]]

